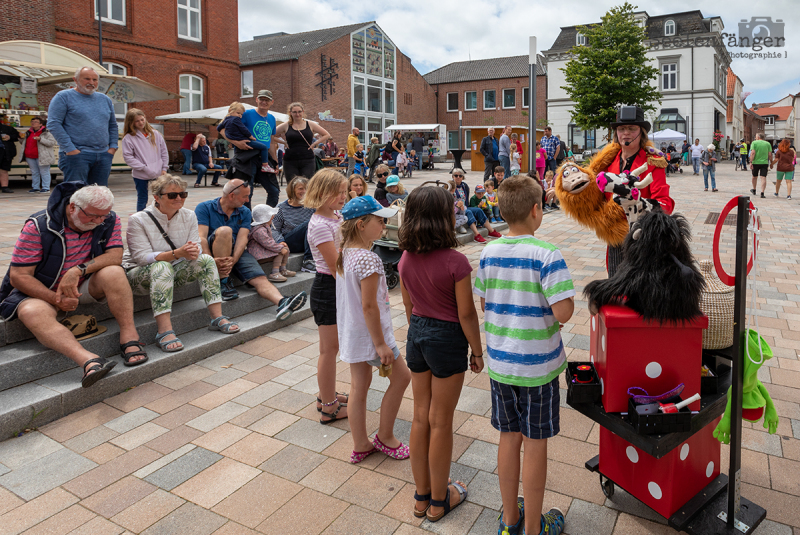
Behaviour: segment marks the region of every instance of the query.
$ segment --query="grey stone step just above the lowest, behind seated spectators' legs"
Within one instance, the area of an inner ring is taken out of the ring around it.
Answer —
[[[294,295],[301,291],[308,293],[311,290],[314,275],[298,273],[288,281],[276,284],[284,295]],[[238,317],[257,310],[263,310],[274,305],[262,299],[251,288],[239,287],[239,298],[222,303],[222,313],[238,321]],[[210,317],[205,302],[198,295],[192,299],[184,299],[173,304],[172,328],[183,340],[183,333],[196,329],[207,328]],[[147,344],[155,342],[157,332],[156,322],[151,309],[134,313],[136,330],[139,339]],[[12,322],[20,323],[20,322]],[[119,325],[111,318],[101,321],[100,325],[107,327],[107,331],[82,342],[84,348],[101,357],[119,354]],[[185,344],[184,344],[185,345]],[[156,346],[157,347],[157,346]],[[161,349],[155,349],[161,353]],[[0,351],[0,391],[19,386],[30,381],[54,375],[71,368],[75,363],[59,353],[48,349],[35,339],[16,342],[5,346]]]

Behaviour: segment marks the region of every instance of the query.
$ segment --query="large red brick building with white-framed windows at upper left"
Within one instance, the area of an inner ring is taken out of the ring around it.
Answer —
[[[97,5],[103,15],[103,66],[187,97],[130,105],[143,109],[151,121],[238,99],[229,83],[239,76],[235,0],[8,0],[3,15],[14,22],[0,25],[0,41],[56,43],[99,61]],[[39,102],[48,104],[46,98]],[[127,107],[116,105],[120,121]],[[164,125],[170,148],[183,137],[181,129]]]

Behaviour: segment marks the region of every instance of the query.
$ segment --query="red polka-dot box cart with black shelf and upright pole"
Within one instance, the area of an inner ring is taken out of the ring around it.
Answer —
[[[737,223],[734,340],[744,340],[745,333],[747,202],[747,197],[739,198],[742,215]],[[677,325],[645,323],[630,309],[604,306],[590,322],[589,353],[600,379],[600,399],[568,403],[602,426],[600,454],[588,460],[586,468],[600,474],[601,488],[609,499],[613,500],[619,486],[667,519],[676,531],[741,535],[751,533],[766,517],[764,508],[739,492],[741,347],[735,344],[705,355],[706,359],[730,359],[732,369],[720,367],[726,373],[719,378],[719,388],[713,393],[702,392],[700,400],[689,405],[692,417],[688,431],[639,434],[627,414],[627,391],[631,387],[659,395],[683,383],[683,399],[701,392],[702,330],[707,326],[706,317]],[[568,375],[568,383],[571,380]],[[725,411],[730,385],[728,473],[735,477],[729,482],[720,471],[720,442],[713,432]]]

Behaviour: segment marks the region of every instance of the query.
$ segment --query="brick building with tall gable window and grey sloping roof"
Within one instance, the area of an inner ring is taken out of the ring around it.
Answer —
[[[339,145],[353,127],[383,138],[393,124],[436,122],[433,89],[374,22],[295,34],[274,33],[239,43],[242,102],[269,89],[273,110],[302,102]]]

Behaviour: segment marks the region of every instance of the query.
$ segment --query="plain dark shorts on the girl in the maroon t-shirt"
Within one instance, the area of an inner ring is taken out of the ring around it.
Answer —
[[[461,324],[411,316],[406,343],[406,363],[413,373],[430,370],[446,379],[469,368],[469,342]]]

